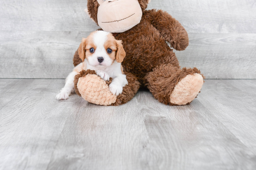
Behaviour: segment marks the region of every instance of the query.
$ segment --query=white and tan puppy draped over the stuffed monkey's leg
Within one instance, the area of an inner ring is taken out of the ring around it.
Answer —
[[[83,38],[78,48],[79,57],[82,59],[66,78],[66,84],[56,96],[57,100],[68,99],[74,89],[74,77],[82,70],[95,70],[103,80],[112,82],[109,90],[114,95],[119,95],[123,87],[128,84],[126,75],[123,74],[121,62],[124,60],[125,51],[121,40],[116,40],[111,33],[105,31],[92,32]]]

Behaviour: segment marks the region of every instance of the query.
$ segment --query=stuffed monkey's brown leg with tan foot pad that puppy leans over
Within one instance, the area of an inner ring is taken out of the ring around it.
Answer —
[[[110,81],[101,79],[95,71],[83,70],[74,78],[75,92],[86,101],[98,105],[118,106],[130,101],[139,89],[138,79],[131,73],[125,72],[128,84],[123,92],[115,96],[109,91]]]

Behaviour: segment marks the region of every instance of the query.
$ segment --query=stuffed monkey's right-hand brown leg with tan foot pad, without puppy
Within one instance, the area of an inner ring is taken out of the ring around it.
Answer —
[[[185,105],[200,92],[203,76],[197,68],[181,70],[172,64],[162,64],[146,75],[145,84],[159,102]]]

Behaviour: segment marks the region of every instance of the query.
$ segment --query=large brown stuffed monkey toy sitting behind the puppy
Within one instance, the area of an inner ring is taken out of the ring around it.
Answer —
[[[83,70],[75,76],[75,91],[85,100],[99,105],[125,104],[146,87],[153,96],[166,105],[185,105],[200,92],[203,75],[197,68],[181,68],[166,42],[178,51],[188,44],[183,26],[162,10],[146,10],[150,0],[88,0],[86,11],[104,30],[123,41],[126,57],[122,62],[128,84],[115,96],[106,82],[95,71]],[[78,51],[74,66],[82,60]]]

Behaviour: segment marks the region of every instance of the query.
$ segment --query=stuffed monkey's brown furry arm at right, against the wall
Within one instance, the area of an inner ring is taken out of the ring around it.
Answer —
[[[171,47],[178,51],[184,50],[189,43],[188,33],[185,28],[165,11],[155,9],[146,10],[144,15],[150,23],[159,30]]]

